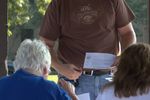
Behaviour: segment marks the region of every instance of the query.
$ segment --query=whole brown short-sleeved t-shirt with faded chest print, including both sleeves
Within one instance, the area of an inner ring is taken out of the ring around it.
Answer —
[[[59,57],[81,67],[86,52],[117,54],[117,28],[133,19],[124,0],[52,0],[40,36],[59,39]]]

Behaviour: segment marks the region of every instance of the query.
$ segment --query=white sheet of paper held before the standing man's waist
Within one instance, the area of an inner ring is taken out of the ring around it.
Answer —
[[[109,53],[86,53],[84,68],[107,69],[115,61],[116,56]]]

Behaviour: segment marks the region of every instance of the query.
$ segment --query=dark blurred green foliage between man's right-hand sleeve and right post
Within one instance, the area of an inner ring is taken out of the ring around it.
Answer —
[[[148,27],[148,0],[126,0],[136,16],[133,25],[137,36],[147,33]]]

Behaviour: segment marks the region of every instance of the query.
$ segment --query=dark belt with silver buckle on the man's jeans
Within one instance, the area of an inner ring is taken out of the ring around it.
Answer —
[[[82,72],[83,75],[90,75],[90,76],[101,76],[105,74],[109,74],[110,71],[102,71],[102,70],[84,70]]]

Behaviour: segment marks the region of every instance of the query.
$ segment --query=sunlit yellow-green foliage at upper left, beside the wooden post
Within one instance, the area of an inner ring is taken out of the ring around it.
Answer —
[[[35,22],[38,22],[38,19],[44,15],[50,1],[51,0],[9,0],[8,36],[12,35],[14,28],[17,26],[25,25],[25,27],[31,27],[38,24]],[[26,25],[27,23],[28,25]]]

